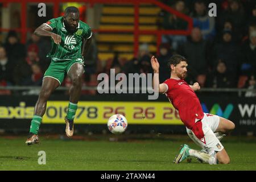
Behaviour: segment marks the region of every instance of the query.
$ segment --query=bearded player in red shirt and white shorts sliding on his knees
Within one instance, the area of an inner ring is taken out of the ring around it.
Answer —
[[[226,133],[233,130],[235,125],[228,119],[203,112],[199,98],[195,94],[195,91],[200,89],[200,85],[197,82],[188,85],[184,81],[187,75],[187,59],[180,55],[172,56],[168,64],[171,68],[171,77],[162,84],[159,84],[159,63],[154,56],[151,57],[151,66],[154,70],[154,90],[166,94],[175,109],[179,111],[188,136],[203,148],[197,151],[184,144],[174,163],[180,163],[188,156],[194,156],[209,164],[230,163],[229,156],[220,140]]]

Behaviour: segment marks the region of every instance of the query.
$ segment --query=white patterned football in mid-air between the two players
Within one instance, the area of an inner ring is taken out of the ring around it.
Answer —
[[[108,121],[108,129],[113,134],[122,134],[127,129],[127,119],[121,114],[112,115]]]

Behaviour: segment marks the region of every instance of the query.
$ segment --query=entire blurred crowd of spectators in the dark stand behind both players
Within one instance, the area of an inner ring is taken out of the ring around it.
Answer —
[[[191,35],[163,35],[159,47],[160,82],[170,77],[168,59],[176,53],[187,57],[189,84],[199,82],[205,88],[256,88],[256,1],[222,0],[216,2],[217,16],[208,15],[204,0],[164,1],[193,20]],[[159,13],[159,29],[187,30],[188,23],[167,11]],[[51,45],[48,39],[32,34],[26,45],[10,31],[0,46],[0,85],[41,85],[51,60],[46,58]],[[114,59],[98,64],[97,46],[92,46],[85,61],[84,85],[97,85],[97,74],[152,73],[149,45],[141,44],[139,54],[126,60],[115,53]],[[70,85],[66,78],[63,85]],[[90,92],[94,94],[95,92]],[[255,96],[251,93],[250,96]]]

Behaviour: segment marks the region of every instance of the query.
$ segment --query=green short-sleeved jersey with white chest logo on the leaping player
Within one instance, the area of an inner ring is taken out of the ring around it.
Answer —
[[[52,49],[47,57],[51,57],[54,61],[82,59],[82,42],[92,36],[92,30],[88,24],[79,20],[77,31],[73,34],[66,30],[63,16],[53,18],[44,24],[51,27],[53,33],[61,36],[60,44],[55,44],[51,39]]]

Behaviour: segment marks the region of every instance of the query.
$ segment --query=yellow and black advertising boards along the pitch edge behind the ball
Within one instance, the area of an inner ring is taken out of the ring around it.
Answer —
[[[127,133],[185,134],[179,114],[164,95],[147,100],[147,94],[100,94],[82,96],[76,113],[76,132],[108,132],[106,123],[115,114],[123,114],[128,121]],[[236,124],[235,135],[255,135],[256,104],[254,100],[236,94],[198,94],[205,113],[217,114]],[[0,96],[0,131],[27,133],[38,96]],[[53,95],[47,102],[41,133],[61,134],[65,130],[64,117],[68,96]]]

